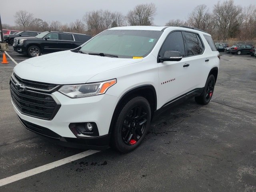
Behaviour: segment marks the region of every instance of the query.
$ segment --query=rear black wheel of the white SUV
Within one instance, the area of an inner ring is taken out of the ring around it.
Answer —
[[[204,90],[202,94],[198,97],[195,97],[195,101],[203,105],[208,104],[212,98],[214,85],[215,85],[215,78],[213,75],[210,75],[206,80],[206,84],[204,86]]]

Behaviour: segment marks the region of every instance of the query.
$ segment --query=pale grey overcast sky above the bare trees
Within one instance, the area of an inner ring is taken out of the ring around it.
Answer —
[[[224,0],[221,0],[223,2]],[[34,18],[44,21],[59,20],[70,23],[76,19],[82,19],[87,11],[110,10],[126,14],[137,4],[154,2],[157,14],[154,19],[155,25],[161,26],[170,19],[185,20],[188,14],[199,4],[206,4],[210,10],[218,0],[6,0],[2,4],[0,15],[2,24],[15,25],[14,14],[18,10],[26,10],[34,14]],[[241,6],[256,5],[256,0],[234,0],[235,4]]]

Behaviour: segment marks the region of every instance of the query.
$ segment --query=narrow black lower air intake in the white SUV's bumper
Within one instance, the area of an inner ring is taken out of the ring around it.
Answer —
[[[47,136],[50,138],[55,138],[55,139],[61,138],[61,136],[59,134],[53,132],[52,130],[50,130],[48,128],[25,121],[25,120],[21,119],[19,116],[18,116],[18,118],[19,118],[20,122],[22,122],[22,124],[30,131],[36,132],[40,135]]]

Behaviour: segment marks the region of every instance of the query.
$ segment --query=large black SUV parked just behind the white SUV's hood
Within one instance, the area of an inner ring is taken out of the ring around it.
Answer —
[[[30,57],[77,48],[92,36],[85,34],[45,31],[35,37],[14,38],[13,49]]]

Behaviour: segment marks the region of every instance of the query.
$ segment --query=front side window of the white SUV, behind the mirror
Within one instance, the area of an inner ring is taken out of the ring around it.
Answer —
[[[166,51],[179,51],[183,57],[185,56],[184,42],[181,32],[176,31],[168,35],[159,52],[159,56],[163,57]]]

